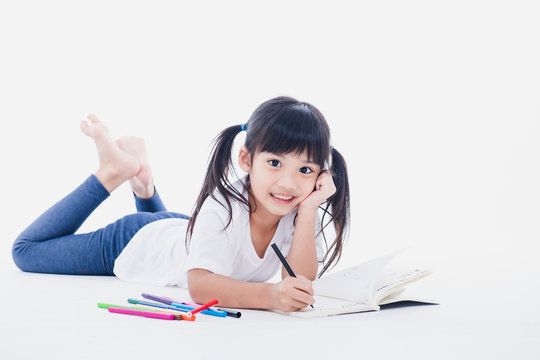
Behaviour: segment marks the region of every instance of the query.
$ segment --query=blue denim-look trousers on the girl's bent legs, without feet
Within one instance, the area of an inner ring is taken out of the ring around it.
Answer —
[[[144,225],[188,216],[168,212],[157,191],[151,199],[135,197],[137,213],[87,234],[75,234],[109,192],[91,175],[78,188],[45,211],[15,240],[13,260],[22,271],[113,275],[114,261]]]

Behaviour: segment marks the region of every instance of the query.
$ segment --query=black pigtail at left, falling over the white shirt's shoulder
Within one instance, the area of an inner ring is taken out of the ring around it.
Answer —
[[[211,196],[216,201],[220,202],[220,200],[216,199],[213,195],[216,189],[224,195],[223,199],[225,199],[225,204],[221,202],[220,204],[229,211],[229,219],[226,227],[229,226],[232,220],[231,198],[249,206],[249,202],[242,196],[242,193],[236,190],[229,181],[230,171],[232,170],[234,172],[231,158],[234,139],[239,132],[245,130],[244,126],[245,125],[230,126],[219,133],[214,139],[204,183],[191,217],[189,218],[186,231],[186,250],[189,249],[193,227],[195,226],[195,221],[197,221],[197,216],[199,215],[199,211],[206,198]]]

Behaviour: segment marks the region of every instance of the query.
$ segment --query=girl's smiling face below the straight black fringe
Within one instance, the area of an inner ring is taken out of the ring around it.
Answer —
[[[256,212],[274,216],[290,213],[308,197],[321,172],[319,165],[309,161],[306,151],[300,155],[256,152],[251,159],[247,148],[242,147],[239,165],[250,174]]]

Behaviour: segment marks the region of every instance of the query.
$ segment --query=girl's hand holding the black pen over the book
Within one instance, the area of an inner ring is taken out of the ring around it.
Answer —
[[[285,312],[298,311],[315,302],[311,281],[298,275],[286,277],[270,290],[272,308]]]

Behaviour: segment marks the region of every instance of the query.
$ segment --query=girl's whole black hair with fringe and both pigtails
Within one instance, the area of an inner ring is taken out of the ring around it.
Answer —
[[[336,192],[320,206],[323,216],[319,231],[326,241],[324,228],[333,222],[336,238],[330,246],[327,244],[320,277],[332,264],[335,265],[339,261],[343,240],[349,227],[347,166],[341,154],[330,146],[330,129],[321,112],[313,105],[291,97],[280,96],[265,101],[255,109],[247,123],[230,126],[214,139],[204,183],[188,222],[186,247],[189,247],[193,227],[204,201],[208,196],[216,199],[213,195],[216,189],[223,195],[225,204],[222,205],[229,211],[226,226],[232,220],[231,200],[245,204],[250,213],[256,210],[251,206],[249,199],[232,186],[230,179],[231,173],[234,172],[231,154],[234,140],[244,128],[246,129],[244,146],[252,157],[261,151],[274,154],[301,154],[307,151],[309,161],[317,163],[321,169],[330,171]],[[250,192],[249,175],[244,188],[249,196],[253,197]],[[330,219],[325,224],[327,215]]]

